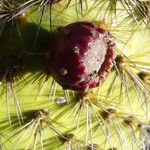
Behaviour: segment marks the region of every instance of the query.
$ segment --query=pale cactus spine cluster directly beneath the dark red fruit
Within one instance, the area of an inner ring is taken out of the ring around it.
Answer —
[[[105,109],[105,102],[97,100],[96,97],[91,92],[78,93],[76,100],[77,100],[77,103],[75,104],[74,108],[72,108],[72,110],[68,113],[67,118],[73,112],[75,112],[74,121],[73,121],[72,125],[74,124],[75,120],[77,119],[76,129],[78,130],[78,128],[80,126],[80,117],[81,117],[81,115],[83,115],[83,111],[84,111],[85,123],[86,123],[86,129],[85,129],[86,130],[85,131],[86,145],[89,141],[89,136],[90,136],[91,143],[93,143],[93,125],[92,125],[92,123],[93,123],[92,116],[93,116],[95,118],[95,120],[98,122],[98,126],[103,131],[103,134],[106,137],[107,142],[109,143],[110,147],[112,147],[109,137],[108,137],[108,135],[101,123],[99,115],[97,113],[97,109],[107,112],[107,110]],[[90,132],[90,135],[89,135],[89,132]]]

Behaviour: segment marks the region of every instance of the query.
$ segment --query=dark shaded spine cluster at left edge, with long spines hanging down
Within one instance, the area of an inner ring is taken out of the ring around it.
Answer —
[[[17,113],[19,123],[23,122],[21,109],[19,102],[16,97],[14,82],[15,80],[21,80],[23,73],[23,62],[19,57],[7,56],[2,57],[0,60],[0,82],[6,82],[6,108],[8,120],[11,126],[10,108],[9,108],[9,93],[11,92],[13,96],[13,101]],[[10,92],[9,92],[10,90]]]

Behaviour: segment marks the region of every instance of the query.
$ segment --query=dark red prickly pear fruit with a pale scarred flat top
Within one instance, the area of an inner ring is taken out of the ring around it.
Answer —
[[[47,69],[64,89],[87,92],[101,84],[110,72],[113,45],[105,29],[89,22],[58,28],[47,51]]]

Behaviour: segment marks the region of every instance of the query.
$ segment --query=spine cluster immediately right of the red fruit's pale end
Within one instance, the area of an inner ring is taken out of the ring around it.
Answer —
[[[116,70],[114,78],[112,80],[112,84],[108,89],[107,96],[109,96],[110,92],[113,90],[114,83],[117,79],[117,75],[121,80],[121,88],[120,88],[120,98],[121,95],[125,92],[128,104],[132,112],[131,98],[130,98],[130,90],[131,88],[137,95],[137,99],[140,104],[145,104],[146,108],[146,116],[148,115],[148,90],[142,84],[140,78],[136,75],[136,71],[139,71],[140,68],[138,64],[132,60],[130,60],[130,56],[127,57],[124,54],[118,55],[114,61],[114,69]],[[141,95],[142,92],[142,95]],[[143,108],[144,109],[144,108]],[[132,112],[133,113],[133,112]],[[148,116],[147,116],[148,117]]]

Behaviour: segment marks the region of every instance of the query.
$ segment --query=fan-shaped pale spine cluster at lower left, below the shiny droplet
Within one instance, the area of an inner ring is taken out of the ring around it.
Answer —
[[[37,139],[38,135],[40,136],[40,146],[41,149],[44,149],[44,144],[43,144],[43,136],[42,136],[42,130],[44,128],[48,128],[50,132],[55,133],[59,136],[61,136],[61,132],[58,131],[58,129],[55,127],[55,125],[60,125],[58,122],[55,120],[51,119],[50,112],[47,109],[41,109],[37,111],[32,120],[26,123],[23,127],[21,127],[17,132],[15,132],[11,137],[16,136],[19,134],[16,138],[16,146],[17,148],[18,144],[25,139],[25,136],[27,134],[29,135],[28,143],[26,145],[26,149],[30,148],[30,144],[32,143],[33,140],[33,149],[36,150],[37,146]],[[14,141],[14,142],[15,142]]]

